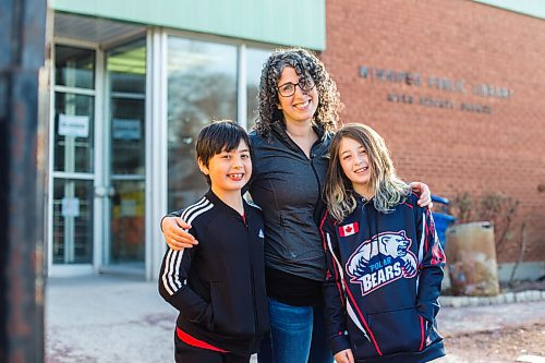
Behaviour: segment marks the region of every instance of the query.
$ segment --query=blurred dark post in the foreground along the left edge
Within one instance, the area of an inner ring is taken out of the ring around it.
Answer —
[[[0,362],[44,362],[47,9],[0,0]]]

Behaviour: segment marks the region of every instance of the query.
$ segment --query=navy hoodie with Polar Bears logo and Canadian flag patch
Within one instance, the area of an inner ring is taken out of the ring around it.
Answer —
[[[351,348],[356,362],[397,363],[445,355],[435,320],[445,254],[432,214],[416,202],[412,194],[382,214],[358,196],[342,222],[324,217],[324,299],[334,354]]]

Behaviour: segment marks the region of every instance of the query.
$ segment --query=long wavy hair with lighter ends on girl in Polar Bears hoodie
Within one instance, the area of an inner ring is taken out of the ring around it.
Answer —
[[[348,123],[337,131],[329,150],[330,162],[324,190],[329,213],[340,222],[356,207],[352,182],[342,171],[339,160],[339,148],[344,137],[360,143],[367,152],[375,208],[382,213],[392,211],[409,196],[411,189],[397,176],[384,138],[368,125]]]

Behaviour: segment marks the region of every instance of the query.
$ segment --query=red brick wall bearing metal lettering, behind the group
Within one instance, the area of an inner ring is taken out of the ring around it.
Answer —
[[[373,125],[404,180],[520,201],[498,256],[545,261],[545,21],[463,0],[328,0],[322,59],[344,122]]]

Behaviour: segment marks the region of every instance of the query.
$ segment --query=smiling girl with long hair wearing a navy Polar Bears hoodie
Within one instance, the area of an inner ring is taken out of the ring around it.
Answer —
[[[436,330],[445,255],[429,209],[401,181],[373,129],[347,124],[331,141],[320,229],[324,301],[337,362],[427,362],[445,355]]]

